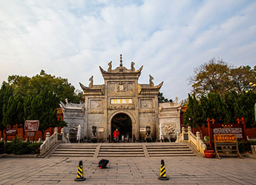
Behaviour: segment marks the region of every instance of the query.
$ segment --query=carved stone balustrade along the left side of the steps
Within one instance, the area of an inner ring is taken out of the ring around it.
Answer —
[[[46,133],[45,141],[40,146],[40,155],[41,156],[45,155],[47,152],[49,152],[51,147],[53,147],[57,142],[59,142],[58,135],[59,135],[59,133],[58,133],[57,127],[54,128],[53,135],[50,136],[49,132]],[[63,128],[62,128],[60,135],[62,135],[62,140],[60,142],[64,142],[64,143],[69,142],[68,134],[65,135]]]

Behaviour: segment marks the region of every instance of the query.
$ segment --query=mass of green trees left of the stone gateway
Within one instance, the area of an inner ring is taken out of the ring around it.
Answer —
[[[82,92],[76,93],[68,79],[56,78],[44,70],[32,78],[10,75],[0,89],[1,134],[7,124],[18,124],[23,128],[24,121],[29,119],[40,121],[42,137],[49,127],[65,126],[65,121],[59,121],[55,111],[59,101],[65,101],[65,98],[73,103],[79,103],[82,98]]]

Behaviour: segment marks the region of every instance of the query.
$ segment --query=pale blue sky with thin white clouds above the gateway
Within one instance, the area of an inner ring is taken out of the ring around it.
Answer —
[[[77,89],[103,84],[99,66],[142,65],[140,84],[164,81],[165,98],[185,99],[188,78],[211,58],[256,65],[256,1],[0,0],[0,82],[46,73]]]

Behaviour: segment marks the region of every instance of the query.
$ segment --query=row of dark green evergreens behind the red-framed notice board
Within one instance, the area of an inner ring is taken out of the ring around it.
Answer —
[[[217,123],[237,123],[237,118],[245,118],[246,127],[256,126],[255,122],[255,92],[229,92],[224,97],[217,93],[188,95],[188,110],[184,123],[191,127],[207,126],[206,119],[214,118]]]

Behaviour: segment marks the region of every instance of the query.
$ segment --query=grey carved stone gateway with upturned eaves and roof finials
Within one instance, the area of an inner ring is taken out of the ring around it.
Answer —
[[[81,138],[85,141],[95,138],[95,135],[91,134],[95,127],[98,128],[98,141],[111,141],[114,128],[119,129],[120,138],[122,135],[128,135],[127,138],[133,138],[133,141],[145,139],[145,127],[151,128],[150,137],[153,141],[159,140],[160,124],[164,132],[161,133],[163,138],[167,135],[173,137],[176,132],[180,132],[181,104],[158,104],[158,93],[163,82],[155,85],[154,78],[149,75],[148,84],[139,84],[142,67],[136,70],[134,62],[131,62],[131,69],[123,67],[122,55],[116,69],[112,69],[111,61],[108,63],[108,70],[103,70],[102,67],[99,67],[99,70],[104,84],[93,84],[93,76],[89,79],[88,87],[79,83],[85,98],[82,104],[61,102],[64,119],[68,122],[65,132],[70,132],[72,125],[81,124]],[[168,106],[172,108],[169,109]]]

